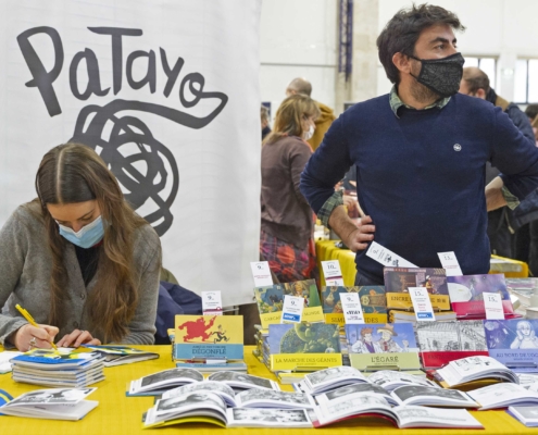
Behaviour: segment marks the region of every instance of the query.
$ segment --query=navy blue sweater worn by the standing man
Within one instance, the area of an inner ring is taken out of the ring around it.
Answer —
[[[489,271],[485,166],[498,167],[520,200],[538,186],[538,149],[500,108],[456,94],[442,109],[400,108],[385,95],[347,110],[326,133],[301,176],[317,212],[356,165],[359,202],[374,239],[421,268],[454,251],[464,274]],[[358,271],[383,281],[383,266],[356,253]]]

